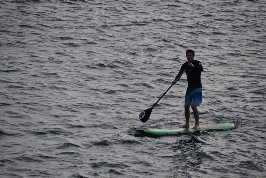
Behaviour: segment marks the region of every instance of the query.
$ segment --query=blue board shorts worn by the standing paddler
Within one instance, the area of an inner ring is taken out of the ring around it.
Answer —
[[[189,89],[188,89],[189,90]],[[185,106],[199,106],[202,102],[202,88],[193,89],[185,97]]]

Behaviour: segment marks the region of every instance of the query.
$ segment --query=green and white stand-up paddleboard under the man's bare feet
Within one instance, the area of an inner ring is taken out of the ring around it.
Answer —
[[[200,125],[200,129],[185,129],[185,128],[178,128],[178,129],[148,129],[148,130],[137,130],[136,132],[139,133],[138,136],[163,136],[168,134],[176,134],[176,133],[187,133],[187,132],[195,132],[195,131],[225,131],[234,128],[234,124],[230,123],[222,123],[222,124],[210,124],[210,125]],[[136,135],[135,135],[136,136]]]

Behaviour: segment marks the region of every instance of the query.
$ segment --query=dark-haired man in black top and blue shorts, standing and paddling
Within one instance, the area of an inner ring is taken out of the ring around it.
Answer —
[[[195,126],[193,129],[199,129],[199,112],[197,106],[201,105],[202,101],[202,85],[201,85],[201,71],[203,67],[200,61],[194,60],[195,52],[191,49],[186,50],[186,58],[188,62],[185,62],[176,76],[172,84],[175,84],[183,74],[184,70],[186,72],[186,77],[188,78],[188,88],[186,90],[185,96],[185,118],[186,124],[183,128],[189,128],[189,118],[190,118],[190,106],[194,113]]]

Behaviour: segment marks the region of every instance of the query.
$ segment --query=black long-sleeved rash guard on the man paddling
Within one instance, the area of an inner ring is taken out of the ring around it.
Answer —
[[[193,60],[192,64],[194,65],[194,67],[188,67],[188,62],[185,62],[181,66],[181,69],[175,78],[177,79],[180,75],[182,75],[182,72],[186,70],[186,77],[188,78],[188,89],[186,91],[186,95],[196,88],[202,88],[201,71],[203,71],[203,67],[201,65],[201,62]]]

